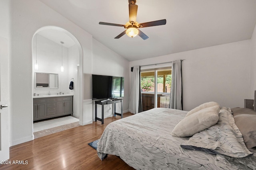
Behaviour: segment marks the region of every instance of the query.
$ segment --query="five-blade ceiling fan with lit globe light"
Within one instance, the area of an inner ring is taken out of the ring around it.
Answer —
[[[128,2],[129,2],[129,22],[127,22],[125,25],[116,24],[116,23],[99,22],[99,24],[101,25],[112,25],[112,26],[124,27],[126,29],[122,33],[120,33],[118,36],[116,36],[115,39],[118,39],[122,37],[124,34],[126,34],[129,37],[135,37],[136,35],[139,35],[142,39],[145,40],[145,39],[148,39],[148,36],[144,34],[142,31],[140,31],[140,29],[138,28],[152,27],[152,26],[166,24],[166,19],[144,22],[144,23],[136,22],[138,5],[136,5],[136,0],[128,0]]]

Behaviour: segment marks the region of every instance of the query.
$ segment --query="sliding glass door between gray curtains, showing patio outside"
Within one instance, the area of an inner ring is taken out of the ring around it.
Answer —
[[[141,71],[143,111],[154,107],[169,107],[171,79],[171,68]]]

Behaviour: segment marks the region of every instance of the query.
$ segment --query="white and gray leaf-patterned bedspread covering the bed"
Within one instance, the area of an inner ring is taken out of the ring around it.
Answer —
[[[188,138],[172,137],[175,125],[187,111],[154,108],[110,123],[98,143],[101,160],[106,154],[120,156],[139,170],[247,170],[240,162],[219,160],[216,155],[187,150]],[[218,156],[218,155],[217,155]]]

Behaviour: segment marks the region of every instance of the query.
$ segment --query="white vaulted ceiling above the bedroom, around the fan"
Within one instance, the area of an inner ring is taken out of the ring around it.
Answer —
[[[114,39],[124,27],[99,22],[128,22],[128,0],[40,1],[128,61],[250,39],[256,24],[256,0],[137,0],[138,23],[166,19],[166,25],[141,28],[146,40]]]

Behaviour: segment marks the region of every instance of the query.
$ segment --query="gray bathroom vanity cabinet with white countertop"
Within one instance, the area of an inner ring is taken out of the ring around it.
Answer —
[[[33,121],[73,114],[73,94],[33,96]]]

